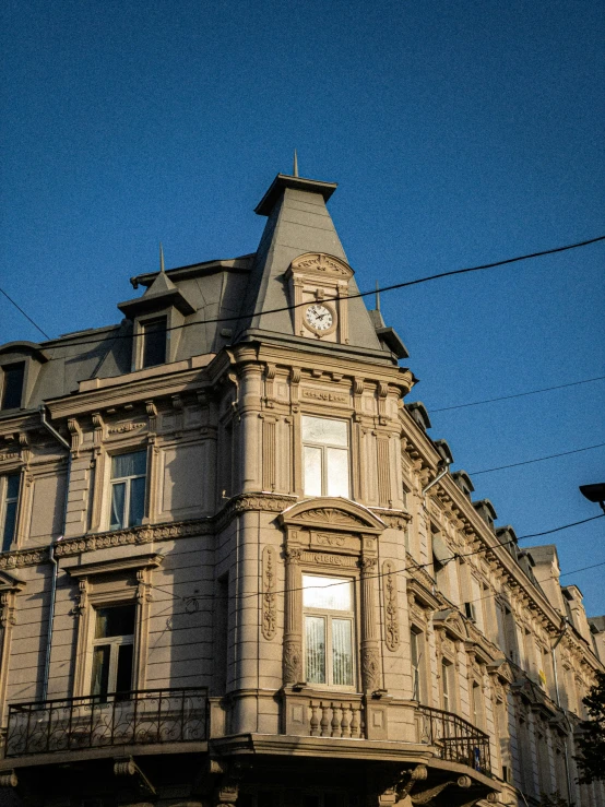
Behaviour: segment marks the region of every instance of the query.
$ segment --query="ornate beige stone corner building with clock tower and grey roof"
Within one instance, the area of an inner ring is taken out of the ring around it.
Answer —
[[[7,804],[605,804],[604,619],[449,472],[334,190],[278,175],[256,253],[0,347]]]

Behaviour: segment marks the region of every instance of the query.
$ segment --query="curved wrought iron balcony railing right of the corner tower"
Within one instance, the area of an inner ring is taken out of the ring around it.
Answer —
[[[490,774],[489,737],[458,714],[441,709],[418,707],[420,741],[436,746],[441,759],[461,762]]]

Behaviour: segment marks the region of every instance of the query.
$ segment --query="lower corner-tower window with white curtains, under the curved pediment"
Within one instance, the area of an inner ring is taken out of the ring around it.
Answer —
[[[309,684],[354,687],[353,581],[302,575],[305,677]]]

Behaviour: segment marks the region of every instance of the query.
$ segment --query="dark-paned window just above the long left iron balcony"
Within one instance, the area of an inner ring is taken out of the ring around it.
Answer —
[[[91,695],[107,699],[108,692],[132,689],[134,605],[97,608],[93,639]]]

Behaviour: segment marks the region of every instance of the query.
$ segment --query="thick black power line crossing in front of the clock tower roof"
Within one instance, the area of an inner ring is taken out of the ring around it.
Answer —
[[[517,263],[519,261],[527,261],[533,258],[541,258],[543,256],[554,254],[556,252],[565,252],[570,249],[579,249],[580,247],[586,247],[591,244],[597,244],[598,241],[605,241],[605,236],[597,236],[596,238],[590,238],[589,240],[585,240],[585,241],[578,241],[577,244],[568,244],[565,247],[555,247],[553,249],[545,249],[539,252],[531,252],[529,254],[517,256],[515,258],[507,258],[506,260],[502,260],[502,261],[494,261],[493,263],[483,263],[478,266],[467,266],[465,269],[453,269],[453,270],[450,270],[449,272],[440,272],[439,274],[432,274],[432,275],[427,275],[425,277],[418,277],[415,281],[405,281],[404,283],[393,283],[390,286],[383,286],[382,288],[372,288],[370,292],[357,292],[356,294],[345,295],[343,297],[339,297],[337,299],[352,300],[352,299],[357,299],[359,297],[368,297],[370,295],[375,295],[377,292],[380,292],[380,293],[393,292],[398,288],[406,288],[407,286],[415,286],[420,283],[427,283],[428,281],[436,281],[441,277],[450,277],[450,276],[458,275],[458,274],[467,274],[468,272],[479,272],[486,269],[495,269],[496,266],[503,266],[509,263]],[[280,308],[270,308],[268,310],[250,311],[248,313],[240,313],[234,317],[215,317],[214,319],[199,320],[197,322],[183,322],[180,325],[171,325],[170,328],[166,328],[166,331],[167,332],[178,331],[183,328],[190,328],[192,325],[209,325],[209,324],[215,324],[218,322],[239,322],[241,320],[252,319],[254,317],[266,316],[270,313],[282,313],[283,311],[293,311],[296,308],[301,308],[302,306],[308,306],[308,305],[309,302],[307,300],[305,302],[297,302],[292,306],[281,306]],[[115,339],[129,339],[130,340],[130,339],[137,339],[142,335],[143,335],[142,332],[139,334],[133,334],[133,333],[132,334],[131,333],[116,334]],[[68,336],[69,334],[66,334],[66,337]],[[78,344],[79,345],[96,345],[105,341],[106,341],[105,339],[87,340],[87,341],[79,342]]]

